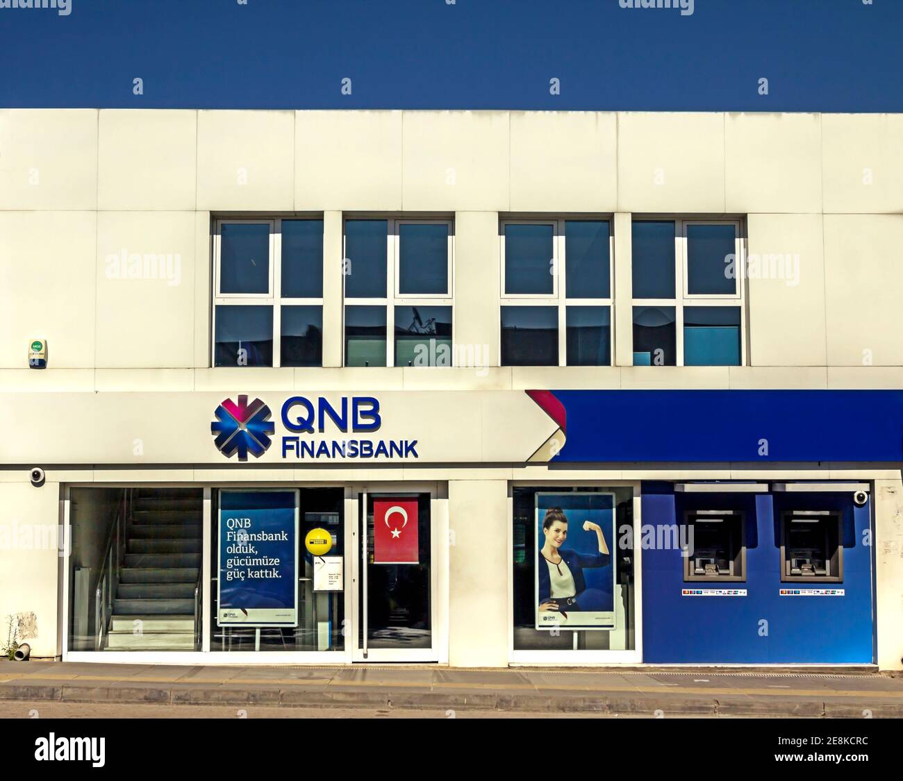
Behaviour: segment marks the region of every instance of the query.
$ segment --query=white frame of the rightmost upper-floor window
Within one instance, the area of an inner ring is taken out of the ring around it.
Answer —
[[[738,366],[747,366],[749,350],[747,349],[747,313],[746,313],[746,276],[740,270],[745,268],[746,234],[744,233],[744,221],[741,218],[708,219],[708,218],[679,218],[662,215],[633,215],[630,220],[631,229],[636,222],[674,222],[675,224],[675,297],[674,298],[630,298],[630,352],[633,349],[634,310],[638,307],[669,306],[675,310],[675,367],[683,367],[684,364],[684,309],[686,307],[739,307],[740,308],[740,363]],[[732,225],[734,227],[734,255],[737,281],[737,293],[688,293],[689,284],[689,258],[687,253],[686,228],[692,225]],[[634,257],[630,258],[631,274],[633,273]],[[716,366],[721,366],[716,365]],[[728,366],[732,366],[729,364]],[[650,368],[656,367],[651,364]],[[706,368],[706,367],[700,367]]]

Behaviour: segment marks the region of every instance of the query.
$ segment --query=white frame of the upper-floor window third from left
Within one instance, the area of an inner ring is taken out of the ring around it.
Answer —
[[[609,297],[608,298],[571,298],[567,297],[567,255],[566,228],[568,222],[607,222],[609,224]],[[552,263],[553,291],[554,293],[506,293],[505,292],[505,227],[507,225],[552,225]],[[609,363],[597,367],[606,368],[614,366],[615,348],[615,245],[614,245],[614,218],[612,215],[561,215],[552,218],[500,218],[498,221],[498,243],[500,250],[500,277],[499,277],[499,311],[498,311],[498,366],[505,367],[502,363],[502,308],[505,306],[547,306],[558,310],[558,366],[568,366],[567,363],[567,309],[569,306],[589,306],[609,308]],[[531,364],[539,368],[548,368],[542,364]]]

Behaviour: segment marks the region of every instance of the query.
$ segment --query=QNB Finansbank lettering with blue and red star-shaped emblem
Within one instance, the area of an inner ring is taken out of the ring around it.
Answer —
[[[275,421],[259,398],[252,402],[247,395],[239,395],[237,402],[224,399],[214,415],[210,433],[227,458],[246,461],[248,453],[259,458],[273,444]],[[280,435],[279,453],[284,460],[419,458],[415,439],[374,436],[382,426],[374,396],[341,396],[334,402],[325,396],[294,395],[284,401],[280,418],[285,433]]]

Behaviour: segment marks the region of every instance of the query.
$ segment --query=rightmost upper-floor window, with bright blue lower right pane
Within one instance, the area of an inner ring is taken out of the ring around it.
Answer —
[[[740,221],[632,225],[634,366],[744,362]]]

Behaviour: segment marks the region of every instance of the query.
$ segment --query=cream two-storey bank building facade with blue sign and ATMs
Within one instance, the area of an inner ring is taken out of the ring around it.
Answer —
[[[903,668],[901,141],[0,111],[0,618],[71,661]]]

